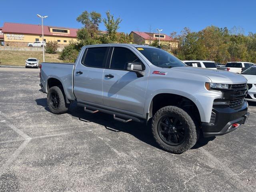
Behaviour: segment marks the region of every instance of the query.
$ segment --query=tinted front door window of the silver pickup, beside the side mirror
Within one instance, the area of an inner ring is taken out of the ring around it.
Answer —
[[[122,47],[115,47],[110,68],[111,69],[125,69],[126,63],[128,62],[140,62],[140,59],[130,50]]]

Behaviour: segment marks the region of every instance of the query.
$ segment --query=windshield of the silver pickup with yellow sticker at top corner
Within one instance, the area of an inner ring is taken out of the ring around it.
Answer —
[[[162,68],[184,67],[186,64],[159,48],[137,48],[153,65]]]

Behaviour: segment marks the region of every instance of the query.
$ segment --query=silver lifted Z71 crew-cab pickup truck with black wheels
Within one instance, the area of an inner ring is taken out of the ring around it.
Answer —
[[[65,113],[76,101],[85,112],[150,123],[159,146],[176,154],[200,135],[235,130],[249,115],[242,75],[189,67],[150,46],[84,46],[74,64],[42,63],[40,77],[52,113]]]

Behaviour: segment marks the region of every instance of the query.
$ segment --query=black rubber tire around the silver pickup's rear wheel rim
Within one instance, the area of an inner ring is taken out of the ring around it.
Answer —
[[[58,108],[57,109],[54,109],[51,105],[51,101],[50,101],[50,96],[51,96],[51,93],[54,92],[55,94],[58,95]],[[47,104],[50,108],[50,111],[54,114],[63,114],[65,112],[67,112],[68,110],[68,104],[66,104],[65,102],[65,97],[64,97],[64,92],[58,87],[58,86],[54,86],[54,87],[51,87],[50,90],[48,91],[48,94],[47,94]]]

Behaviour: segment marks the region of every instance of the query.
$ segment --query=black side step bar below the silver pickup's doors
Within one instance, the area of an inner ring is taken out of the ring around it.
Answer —
[[[91,106],[91,105],[88,105],[88,104],[77,103],[77,105],[84,107],[85,112],[89,112],[89,113],[92,113],[92,114],[94,114],[96,112],[99,112],[99,111],[103,112],[103,113],[111,114],[111,115],[113,115],[114,120],[117,120],[117,121],[120,121],[120,122],[123,122],[123,123],[130,122],[130,121],[136,121],[136,122],[140,122],[140,123],[144,122],[143,119],[140,119],[140,118],[137,118],[137,117],[134,117],[134,116],[130,116],[130,115],[122,114],[122,113],[119,113],[119,112],[115,112],[115,111],[111,111],[111,110]],[[88,109],[88,108],[90,108],[90,109]],[[116,116],[118,116],[120,118],[118,118]]]

